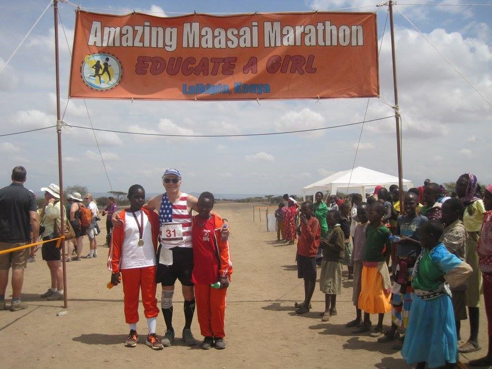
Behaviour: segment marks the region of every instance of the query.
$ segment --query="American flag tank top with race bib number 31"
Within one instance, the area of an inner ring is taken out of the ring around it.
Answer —
[[[175,203],[171,203],[167,193],[162,194],[159,209],[161,245],[165,248],[187,247],[191,243],[191,215],[187,210],[188,194],[182,193]]]

